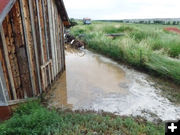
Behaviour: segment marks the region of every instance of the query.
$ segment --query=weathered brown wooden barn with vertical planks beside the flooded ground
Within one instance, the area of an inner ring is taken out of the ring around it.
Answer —
[[[0,0],[0,119],[65,70],[62,0]]]

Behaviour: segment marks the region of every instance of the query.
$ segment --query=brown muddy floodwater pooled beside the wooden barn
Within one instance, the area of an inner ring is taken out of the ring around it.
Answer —
[[[180,119],[180,105],[160,94],[144,73],[88,50],[66,50],[66,72],[54,86],[49,105],[72,110],[140,115],[149,120]],[[178,88],[177,88],[178,89]]]

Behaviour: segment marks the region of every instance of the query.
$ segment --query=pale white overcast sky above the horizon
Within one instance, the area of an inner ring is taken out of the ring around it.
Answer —
[[[180,18],[180,0],[64,0],[70,18]]]

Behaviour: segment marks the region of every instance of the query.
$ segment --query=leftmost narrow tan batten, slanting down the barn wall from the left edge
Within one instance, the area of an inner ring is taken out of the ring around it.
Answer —
[[[3,28],[1,28],[1,38],[2,38],[2,42],[3,42],[4,55],[5,55],[5,60],[6,60],[6,64],[7,64],[11,89],[12,89],[12,93],[13,93],[13,99],[17,99],[15,83],[14,83],[14,79],[13,79],[13,72],[11,70],[11,64],[10,64],[10,60],[9,60],[9,53],[8,53],[8,48],[7,48],[6,38],[5,38],[5,35],[4,35]],[[9,43],[9,41],[8,41],[8,43]]]

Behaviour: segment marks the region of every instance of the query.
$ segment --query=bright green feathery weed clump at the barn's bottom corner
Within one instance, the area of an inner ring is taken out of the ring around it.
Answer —
[[[48,135],[60,130],[61,117],[39,102],[22,104],[13,117],[0,125],[0,135]]]

